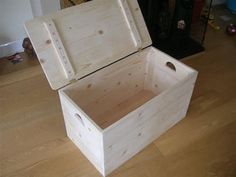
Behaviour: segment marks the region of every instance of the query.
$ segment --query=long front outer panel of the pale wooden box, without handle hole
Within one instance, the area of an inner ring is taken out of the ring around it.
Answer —
[[[196,75],[192,73],[104,131],[106,175],[185,116]]]

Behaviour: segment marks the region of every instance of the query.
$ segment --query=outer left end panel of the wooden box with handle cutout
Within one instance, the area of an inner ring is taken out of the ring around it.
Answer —
[[[101,132],[84,113],[76,109],[63,91],[59,92],[67,136],[96,167],[104,174],[103,140]]]

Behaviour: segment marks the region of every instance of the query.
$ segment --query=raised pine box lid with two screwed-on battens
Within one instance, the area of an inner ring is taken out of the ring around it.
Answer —
[[[152,43],[137,0],[93,0],[25,28],[52,89]]]

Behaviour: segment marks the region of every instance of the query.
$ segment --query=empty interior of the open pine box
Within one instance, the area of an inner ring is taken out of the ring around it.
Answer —
[[[162,55],[154,49],[145,49],[63,91],[105,129],[187,76],[186,68],[176,68],[173,60]]]

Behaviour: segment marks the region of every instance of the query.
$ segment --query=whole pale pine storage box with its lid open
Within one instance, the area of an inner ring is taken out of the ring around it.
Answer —
[[[186,115],[197,72],[150,46],[136,0],[93,0],[26,31],[68,137],[103,176]]]

